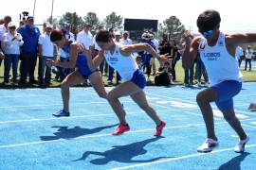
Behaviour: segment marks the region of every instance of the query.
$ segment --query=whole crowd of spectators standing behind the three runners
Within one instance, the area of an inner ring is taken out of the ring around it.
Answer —
[[[55,74],[55,80],[62,81],[65,76],[74,71],[74,69],[65,68],[49,68],[46,66],[46,59],[60,59],[62,62],[68,61],[69,57],[62,49],[58,49],[55,44],[50,42],[50,33],[53,26],[45,23],[43,30],[34,25],[34,18],[27,16],[27,20],[20,22],[20,26],[15,26],[11,23],[11,17],[5,16],[0,21],[0,66],[4,67],[4,82],[5,86],[19,84],[39,84],[50,85],[52,72]],[[62,29],[65,31],[66,38],[70,41],[82,43],[86,48],[90,48],[93,56],[97,56],[101,49],[95,42],[95,35],[92,35],[89,24],[84,25],[83,29],[74,35],[71,30],[71,25],[65,23]],[[99,26],[98,30],[104,29],[104,26]],[[129,39],[128,31],[109,29],[113,33],[113,39],[116,43],[122,45],[132,44]],[[96,31],[97,32],[97,31]],[[175,84],[176,72],[175,65],[181,59],[181,51],[184,46],[178,45],[174,40],[169,40],[167,35],[162,35],[160,40],[155,38],[153,32],[145,31],[141,35],[140,43],[149,43],[160,55],[166,55],[168,62],[159,63],[159,68],[155,68],[155,59],[146,51],[134,54],[137,64],[141,70],[147,75],[148,82],[154,82],[155,85],[169,86]],[[251,71],[251,60],[253,58],[253,50],[250,45],[243,50],[241,47],[236,49],[236,59],[238,59],[239,67],[242,59],[246,60],[245,70]],[[37,61],[37,59],[39,61]],[[2,61],[4,60],[4,64]],[[35,76],[35,68],[38,62],[38,77]],[[194,68],[195,67],[195,68]],[[10,81],[10,68],[12,68],[12,76]],[[18,70],[19,68],[19,70]],[[115,85],[121,82],[119,73],[112,67],[108,66],[105,61],[101,63],[100,71],[102,76],[107,76],[107,84]],[[206,73],[205,66],[200,59],[200,56],[194,60],[194,64],[188,70],[184,70],[184,85],[186,87],[195,84],[194,79],[197,79],[197,85],[202,87],[201,76],[204,77],[204,85],[209,85],[209,78]],[[18,79],[19,76],[19,79]],[[28,76],[28,78],[27,78]],[[150,77],[155,76],[155,79]],[[113,78],[116,77],[114,82]],[[84,82],[86,84],[87,81]]]

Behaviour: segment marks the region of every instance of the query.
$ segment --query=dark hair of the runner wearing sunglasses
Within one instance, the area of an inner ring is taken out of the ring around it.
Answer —
[[[220,13],[216,10],[206,10],[201,13],[196,21],[196,25],[199,28],[199,31],[208,31],[212,30],[218,26],[221,22]]]

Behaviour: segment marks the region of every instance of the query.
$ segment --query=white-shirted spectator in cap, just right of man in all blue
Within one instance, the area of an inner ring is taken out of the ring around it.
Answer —
[[[45,33],[39,37],[39,67],[38,67],[38,80],[39,84],[50,84],[51,68],[46,67],[46,59],[54,58],[54,45],[50,41],[50,33],[52,26],[46,24]],[[44,77],[45,76],[45,77]]]

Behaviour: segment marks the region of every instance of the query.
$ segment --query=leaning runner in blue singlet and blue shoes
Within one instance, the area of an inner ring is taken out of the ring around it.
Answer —
[[[62,62],[61,60],[48,59],[46,61],[49,67],[58,66],[63,68],[76,68],[76,70],[66,76],[62,82],[63,110],[53,113],[56,117],[69,116],[69,88],[89,79],[92,87],[100,97],[106,98],[107,93],[101,79],[101,72],[98,69],[90,70],[87,58],[83,53],[82,44],[72,42],[66,37],[67,32],[64,29],[54,29],[50,34],[50,41],[62,48],[69,60]],[[87,56],[91,56],[89,52]]]

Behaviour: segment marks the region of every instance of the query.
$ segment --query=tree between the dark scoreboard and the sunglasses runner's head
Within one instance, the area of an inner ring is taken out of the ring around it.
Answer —
[[[166,19],[163,24],[159,24],[158,35],[167,34],[169,41],[175,40],[180,42],[184,31],[185,26],[181,24],[179,19],[175,16],[171,16],[169,19]]]

